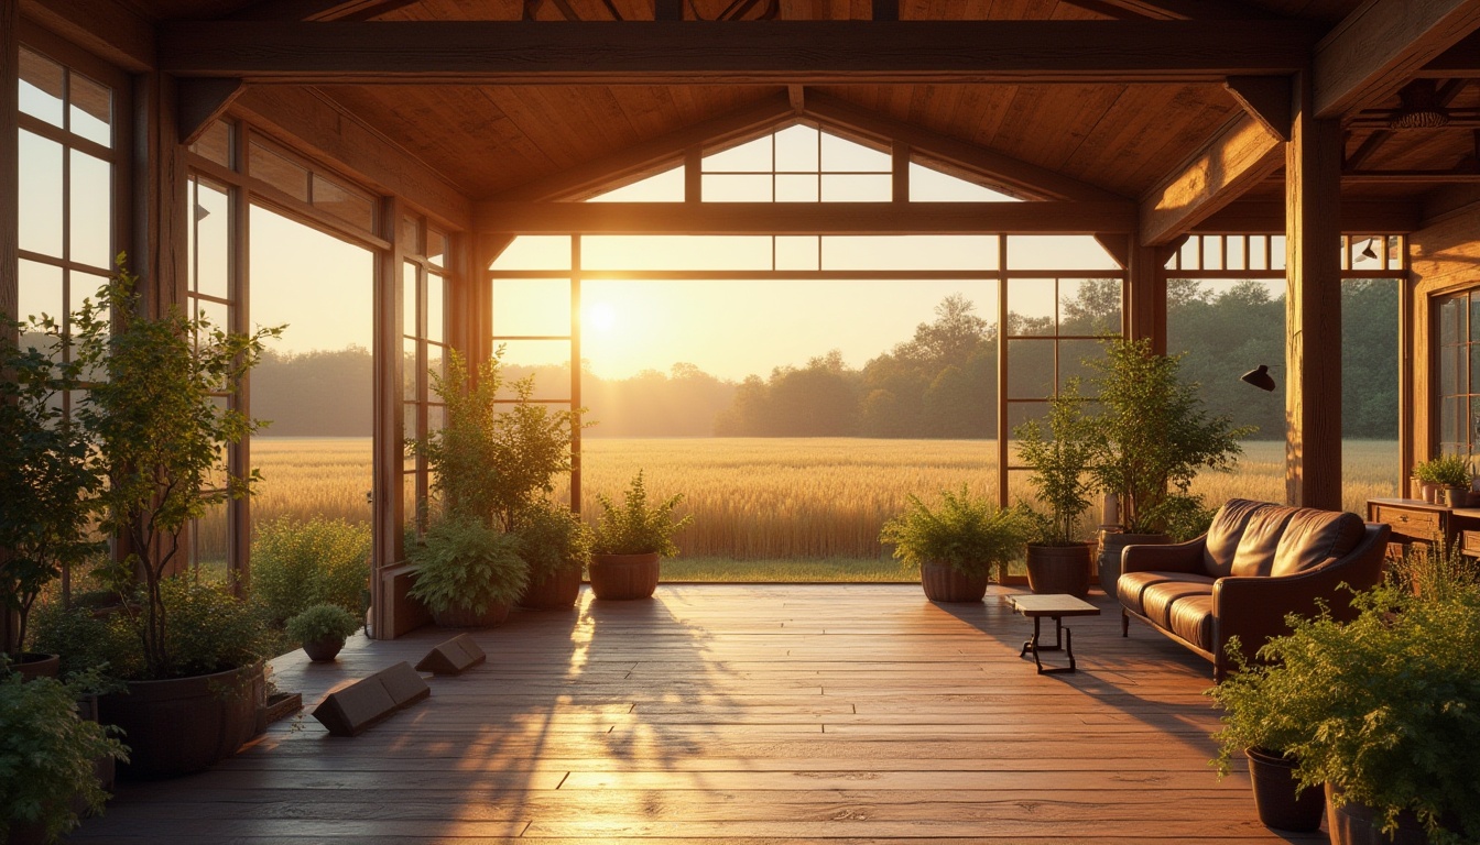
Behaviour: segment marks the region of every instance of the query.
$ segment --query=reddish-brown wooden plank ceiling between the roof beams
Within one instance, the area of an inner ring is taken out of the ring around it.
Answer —
[[[129,0],[154,21],[314,18],[315,10],[374,21],[651,21],[654,0]],[[663,1],[663,0],[657,0]],[[1101,21],[1194,16],[1209,7],[1254,18],[1294,18],[1317,31],[1360,0],[900,0],[900,19]],[[872,0],[681,0],[685,19],[869,19]],[[1230,12],[1231,10],[1231,12]],[[737,27],[743,24],[736,24]],[[1228,21],[1239,27],[1240,21]],[[1471,38],[1474,40],[1474,37]],[[1477,53],[1480,56],[1480,53]],[[1473,62],[1480,64],[1480,61]],[[1419,198],[1434,179],[1393,172],[1474,172],[1480,145],[1480,80],[1437,80],[1456,115],[1444,129],[1390,130],[1394,95],[1347,115],[1353,198]],[[284,86],[249,86],[244,102],[269,108]],[[293,86],[287,86],[293,87]],[[1020,160],[1125,198],[1154,191],[1243,110],[1221,84],[333,84],[317,86],[342,114],[373,129],[472,200],[518,195],[521,186],[611,158],[625,149],[722,121],[767,102],[790,102],[795,118],[821,123],[808,102],[827,101]],[[781,120],[786,120],[781,115]],[[1470,181],[1470,179],[1461,179]],[[1255,191],[1273,194],[1271,188]]]

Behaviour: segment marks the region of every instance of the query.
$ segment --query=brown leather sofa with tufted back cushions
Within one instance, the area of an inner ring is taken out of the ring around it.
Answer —
[[[1231,499],[1190,543],[1125,548],[1120,635],[1140,619],[1211,660],[1222,681],[1236,667],[1233,636],[1252,663],[1271,636],[1289,633],[1286,614],[1316,616],[1325,602],[1350,619],[1351,593],[1338,588],[1382,580],[1390,531],[1356,514]]]

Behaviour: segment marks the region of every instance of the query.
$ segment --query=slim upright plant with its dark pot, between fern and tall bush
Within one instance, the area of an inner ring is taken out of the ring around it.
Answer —
[[[1079,379],[1069,379],[1049,403],[1046,432],[1039,420],[1014,429],[1018,460],[1032,469],[1029,484],[1043,511],[1021,503],[1029,525],[1027,579],[1036,593],[1089,593],[1094,543],[1080,540],[1079,518],[1089,509],[1086,468],[1094,454],[1089,419]]]

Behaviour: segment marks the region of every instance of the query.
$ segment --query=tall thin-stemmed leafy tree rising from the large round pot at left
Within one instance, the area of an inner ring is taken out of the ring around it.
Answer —
[[[108,577],[121,593],[142,582],[139,605],[123,605],[142,648],[141,676],[169,678],[218,657],[178,651],[192,641],[172,633],[164,608],[166,573],[182,562],[185,527],[228,499],[250,496],[259,478],[232,474],[222,453],[260,422],[216,397],[238,388],[263,339],[281,329],[232,334],[176,308],[148,317],[138,277],[123,268],[123,256],[118,262],[74,317],[75,360],[98,379],[75,419],[92,440],[95,471],[108,479],[98,494],[98,527],[123,549]]]

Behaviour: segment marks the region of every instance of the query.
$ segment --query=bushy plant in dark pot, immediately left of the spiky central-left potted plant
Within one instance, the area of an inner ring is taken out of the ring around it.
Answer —
[[[591,527],[570,508],[536,502],[518,518],[519,556],[530,570],[530,583],[519,607],[567,610],[580,595],[580,577],[591,561]]]

